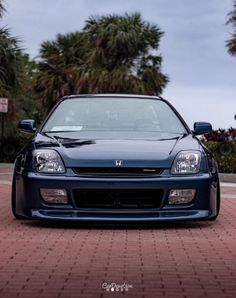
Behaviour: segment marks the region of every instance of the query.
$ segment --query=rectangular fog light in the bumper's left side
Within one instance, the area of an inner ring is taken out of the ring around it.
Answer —
[[[40,194],[47,203],[67,204],[68,197],[65,189],[41,188]]]

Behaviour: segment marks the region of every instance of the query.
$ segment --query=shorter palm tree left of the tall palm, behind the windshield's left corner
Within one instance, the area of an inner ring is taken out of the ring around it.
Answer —
[[[83,34],[58,34],[55,41],[41,45],[35,91],[50,110],[57,100],[76,92],[78,68],[83,65]]]

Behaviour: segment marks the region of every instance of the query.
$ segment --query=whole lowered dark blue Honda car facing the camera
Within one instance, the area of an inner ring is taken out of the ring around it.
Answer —
[[[16,218],[167,221],[218,216],[217,164],[164,99],[137,95],[62,98],[15,161]]]

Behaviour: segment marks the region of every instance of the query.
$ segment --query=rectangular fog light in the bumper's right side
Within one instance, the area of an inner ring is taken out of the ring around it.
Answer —
[[[192,202],[196,189],[171,189],[168,204],[188,204]]]

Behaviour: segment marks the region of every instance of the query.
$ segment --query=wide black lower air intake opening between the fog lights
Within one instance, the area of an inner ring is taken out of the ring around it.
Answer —
[[[74,200],[79,209],[157,209],[160,189],[76,189]]]

